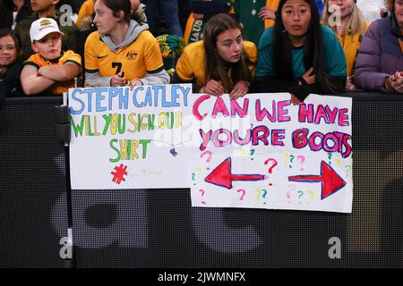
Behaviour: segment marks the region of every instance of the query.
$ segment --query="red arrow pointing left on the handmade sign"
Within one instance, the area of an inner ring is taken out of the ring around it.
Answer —
[[[227,157],[219,164],[204,181],[227,189],[232,188],[232,181],[261,181],[266,178],[260,174],[232,174],[231,173],[231,157]]]

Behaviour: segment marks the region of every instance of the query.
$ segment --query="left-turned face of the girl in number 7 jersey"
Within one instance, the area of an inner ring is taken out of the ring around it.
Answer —
[[[116,29],[116,24],[119,19],[114,16],[112,10],[110,10],[101,0],[95,2],[94,10],[94,24],[97,26],[99,34],[110,35],[111,32]]]

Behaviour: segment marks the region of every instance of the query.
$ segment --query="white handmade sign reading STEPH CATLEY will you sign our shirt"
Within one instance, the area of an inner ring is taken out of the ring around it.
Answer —
[[[189,187],[191,95],[191,85],[70,89],[72,189]]]

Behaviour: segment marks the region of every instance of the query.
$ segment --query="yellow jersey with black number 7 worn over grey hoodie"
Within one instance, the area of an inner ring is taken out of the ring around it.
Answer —
[[[143,30],[130,44],[112,52],[100,38],[99,32],[90,34],[85,42],[85,71],[111,77],[124,72],[127,80],[142,79],[146,72],[162,71],[164,63],[159,43],[149,30]]]

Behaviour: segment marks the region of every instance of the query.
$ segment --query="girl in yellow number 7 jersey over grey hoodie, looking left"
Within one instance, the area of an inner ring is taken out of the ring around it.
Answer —
[[[85,85],[118,87],[169,83],[157,40],[131,19],[130,0],[96,0],[98,31],[85,42]]]

